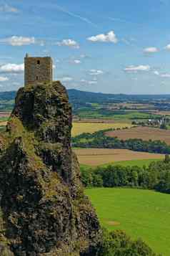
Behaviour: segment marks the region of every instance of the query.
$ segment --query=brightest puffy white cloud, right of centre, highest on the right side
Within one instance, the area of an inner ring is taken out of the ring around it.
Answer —
[[[118,42],[114,31],[110,31],[107,34],[97,34],[96,36],[88,37],[87,39],[91,42],[112,42],[114,44]]]

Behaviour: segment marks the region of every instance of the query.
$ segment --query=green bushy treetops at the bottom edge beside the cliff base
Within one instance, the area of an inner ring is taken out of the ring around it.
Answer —
[[[91,255],[98,256],[156,256],[156,253],[142,240],[131,240],[121,230],[108,232],[106,229],[103,229],[103,240],[92,253]]]

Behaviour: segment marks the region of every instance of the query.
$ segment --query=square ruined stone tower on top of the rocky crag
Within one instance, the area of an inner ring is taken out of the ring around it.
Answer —
[[[33,85],[36,82],[52,82],[53,62],[51,57],[29,57],[26,54],[25,65],[25,86]]]

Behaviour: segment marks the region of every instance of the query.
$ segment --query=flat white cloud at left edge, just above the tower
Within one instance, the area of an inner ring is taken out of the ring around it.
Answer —
[[[29,45],[35,44],[36,40],[34,37],[8,37],[4,39],[0,39],[0,43],[9,44],[12,46],[22,46],[22,45]]]

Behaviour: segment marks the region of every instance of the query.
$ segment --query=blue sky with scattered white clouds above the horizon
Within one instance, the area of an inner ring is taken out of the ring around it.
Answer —
[[[103,93],[170,94],[169,0],[0,0],[0,90],[24,84],[24,55],[54,79]]]

